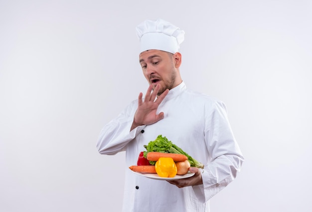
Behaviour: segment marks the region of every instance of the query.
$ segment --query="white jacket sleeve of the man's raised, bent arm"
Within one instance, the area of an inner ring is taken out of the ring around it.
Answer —
[[[100,154],[114,155],[124,151],[127,143],[140,133],[141,128],[145,127],[139,126],[130,131],[136,110],[137,104],[133,101],[115,119],[104,126],[97,142]]]

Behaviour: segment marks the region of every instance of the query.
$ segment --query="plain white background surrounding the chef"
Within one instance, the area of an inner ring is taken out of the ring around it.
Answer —
[[[246,159],[211,211],[311,211],[311,0],[0,0],[1,212],[121,211],[125,155],[96,141],[147,89],[135,27],[156,18]]]

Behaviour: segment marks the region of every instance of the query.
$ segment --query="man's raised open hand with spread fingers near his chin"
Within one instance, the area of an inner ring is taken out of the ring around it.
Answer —
[[[145,94],[144,101],[142,99],[143,93],[139,94],[138,109],[135,113],[135,117],[132,123],[131,130],[141,125],[154,124],[158,122],[159,120],[163,119],[163,112],[156,114],[156,111],[157,111],[159,104],[162,102],[164,97],[168,94],[169,90],[166,89],[165,91],[163,91],[163,93],[160,94],[156,99],[156,95],[159,91],[159,88],[160,88],[160,84],[157,84],[154,91],[152,92],[153,86],[150,85]]]

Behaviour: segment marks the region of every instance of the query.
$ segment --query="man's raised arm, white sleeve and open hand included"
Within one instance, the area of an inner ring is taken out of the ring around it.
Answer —
[[[130,104],[102,129],[97,142],[97,148],[101,154],[112,155],[124,150],[127,143],[141,132],[141,128],[163,119],[163,113],[156,114],[156,111],[168,90],[156,99],[158,90],[159,86],[156,86],[152,92],[152,86],[149,86],[144,100],[143,94],[140,93],[136,109],[136,104]]]

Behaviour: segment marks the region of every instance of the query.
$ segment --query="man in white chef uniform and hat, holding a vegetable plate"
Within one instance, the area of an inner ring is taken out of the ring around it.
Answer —
[[[182,81],[179,44],[184,31],[162,19],[137,26],[139,61],[150,86],[143,98],[126,109],[101,131],[101,154],[126,151],[125,212],[209,212],[209,199],[232,182],[244,160],[233,136],[225,105],[205,94],[190,91]],[[203,163],[194,176],[155,180],[136,175],[144,145],[158,135]]]

